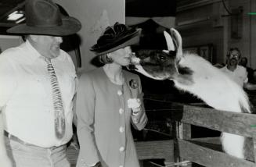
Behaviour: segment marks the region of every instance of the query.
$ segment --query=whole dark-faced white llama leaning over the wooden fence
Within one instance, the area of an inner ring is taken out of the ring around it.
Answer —
[[[217,110],[249,112],[250,103],[243,88],[199,55],[182,53],[182,37],[171,28],[164,31],[168,50],[152,51],[141,58],[132,56],[135,71],[154,80],[173,80],[175,87],[187,91]],[[223,150],[236,158],[245,158],[245,137],[222,133]]]

